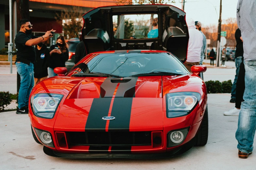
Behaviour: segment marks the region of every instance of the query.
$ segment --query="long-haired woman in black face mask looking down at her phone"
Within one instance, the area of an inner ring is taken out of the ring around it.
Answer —
[[[56,67],[66,67],[65,62],[68,60],[68,45],[64,36],[57,38],[57,43],[50,47],[50,66],[49,77],[57,76],[53,72]]]

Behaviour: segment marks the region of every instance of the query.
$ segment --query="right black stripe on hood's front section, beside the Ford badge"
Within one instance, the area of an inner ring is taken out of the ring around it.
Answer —
[[[111,116],[115,119],[110,120],[109,131],[129,131],[132,99],[120,97],[114,99]]]

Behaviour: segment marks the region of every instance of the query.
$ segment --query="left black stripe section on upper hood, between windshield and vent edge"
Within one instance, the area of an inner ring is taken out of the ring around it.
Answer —
[[[106,78],[100,86],[100,97],[113,97],[117,84],[112,83],[111,78]]]

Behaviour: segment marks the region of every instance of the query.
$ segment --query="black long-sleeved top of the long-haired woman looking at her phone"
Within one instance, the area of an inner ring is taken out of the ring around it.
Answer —
[[[58,47],[57,44],[52,45],[50,47],[50,51],[55,49],[55,47]],[[66,52],[62,52],[61,54],[58,53],[52,53],[50,57],[50,68],[55,67],[66,67],[65,62],[68,61],[68,49],[66,49]]]

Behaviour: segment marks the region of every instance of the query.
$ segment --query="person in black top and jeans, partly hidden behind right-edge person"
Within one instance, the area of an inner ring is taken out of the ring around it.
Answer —
[[[237,30],[235,31],[235,40],[236,40],[236,50],[235,50],[235,67],[236,67],[235,73],[236,74],[235,74],[235,79],[234,79],[232,89],[231,89],[230,103],[235,103],[236,82],[237,82],[237,77],[238,77],[238,73],[239,73],[239,67],[242,62],[242,57],[244,55],[243,38],[242,38],[241,31],[239,28],[237,28]]]

